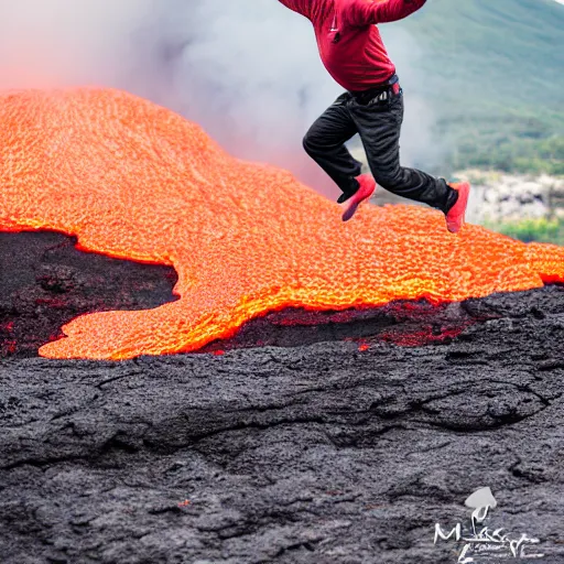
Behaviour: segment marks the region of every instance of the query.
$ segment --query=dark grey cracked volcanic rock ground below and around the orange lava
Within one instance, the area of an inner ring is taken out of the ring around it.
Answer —
[[[563,286],[267,332],[308,346],[51,361],[25,327],[44,343],[79,306],[153,307],[174,276],[105,262],[123,294],[85,303],[108,283],[88,281],[63,236],[2,237],[2,564],[454,564],[463,543],[434,545],[435,523],[468,534],[464,500],[484,486],[490,529],[540,540],[527,553],[545,557],[516,562],[564,563]],[[54,291],[58,317],[35,307]],[[413,335],[426,344],[392,343]],[[327,341],[347,336],[364,346]]]

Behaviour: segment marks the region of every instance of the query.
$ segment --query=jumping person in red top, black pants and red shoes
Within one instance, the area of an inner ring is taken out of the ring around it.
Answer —
[[[337,202],[348,202],[343,220],[355,215],[378,183],[393,194],[441,209],[448,230],[459,231],[469,184],[447,184],[444,178],[400,165],[403,91],[377,28],[406,18],[426,0],[279,1],[313,23],[323,64],[346,89],[303,140],[307,154],[341,189]],[[373,177],[360,174],[361,163],[345,147],[356,133]]]

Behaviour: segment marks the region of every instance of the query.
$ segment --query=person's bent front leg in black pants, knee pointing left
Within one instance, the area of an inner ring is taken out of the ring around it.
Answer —
[[[303,140],[305,152],[343,191],[340,202],[358,189],[355,177],[360,174],[362,167],[345,147],[345,142],[357,133],[357,127],[346,105],[348,98],[348,93],[339,96],[315,120]]]

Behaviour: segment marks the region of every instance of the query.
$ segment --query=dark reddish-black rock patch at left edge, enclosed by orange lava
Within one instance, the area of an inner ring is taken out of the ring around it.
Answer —
[[[0,232],[0,358],[36,356],[84,313],[149,310],[176,300],[173,268],[75,249],[54,231]]]

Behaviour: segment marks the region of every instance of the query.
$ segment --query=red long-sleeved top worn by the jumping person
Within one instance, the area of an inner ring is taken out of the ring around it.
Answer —
[[[394,22],[426,0],[279,0],[312,23],[325,68],[350,91],[388,80],[395,67],[375,24]]]

